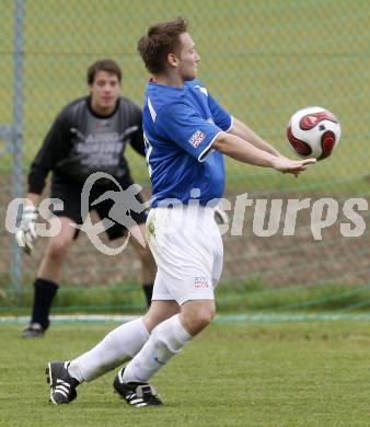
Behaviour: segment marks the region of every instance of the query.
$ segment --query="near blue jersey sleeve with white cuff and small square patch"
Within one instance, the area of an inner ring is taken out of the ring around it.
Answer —
[[[199,162],[206,160],[215,139],[222,132],[222,129],[205,120],[189,105],[181,103],[161,109],[155,122],[166,139],[174,141]]]

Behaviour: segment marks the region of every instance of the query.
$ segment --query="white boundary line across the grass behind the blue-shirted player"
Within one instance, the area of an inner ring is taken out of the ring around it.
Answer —
[[[51,315],[54,324],[68,323],[126,323],[138,319],[139,315],[113,315],[113,314],[70,314]],[[213,323],[244,323],[244,322],[314,322],[314,321],[370,321],[370,313],[254,313],[254,314],[219,314]],[[0,316],[0,325],[26,324],[30,316]]]

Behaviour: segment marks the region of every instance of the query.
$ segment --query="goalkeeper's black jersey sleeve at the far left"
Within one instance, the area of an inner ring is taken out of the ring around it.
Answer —
[[[28,174],[28,192],[42,194],[45,180],[54,166],[70,150],[70,135],[65,112],[60,113],[47,132],[44,142],[31,164]]]

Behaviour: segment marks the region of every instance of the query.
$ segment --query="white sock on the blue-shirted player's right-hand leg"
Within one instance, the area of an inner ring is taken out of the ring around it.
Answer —
[[[126,366],[124,382],[148,382],[192,337],[181,324],[178,314],[160,323],[146,345]]]

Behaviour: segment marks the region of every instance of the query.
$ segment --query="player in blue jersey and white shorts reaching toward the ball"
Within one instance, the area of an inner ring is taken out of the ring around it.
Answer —
[[[136,407],[161,405],[149,380],[215,315],[223,249],[213,206],[224,187],[223,155],[294,175],[314,162],[285,158],[215,101],[196,80],[200,57],[185,20],[151,26],[138,50],[152,74],[143,108],[152,182],[147,235],[158,265],[152,305],[77,359],[48,363],[55,404],[131,358],[118,371],[116,392]]]

